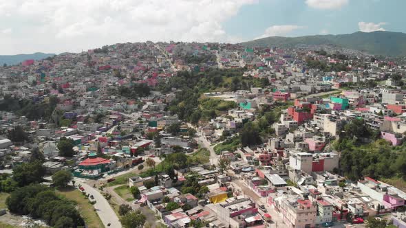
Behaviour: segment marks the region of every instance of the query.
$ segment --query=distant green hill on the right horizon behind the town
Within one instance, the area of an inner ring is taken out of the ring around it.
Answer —
[[[406,56],[406,34],[401,32],[354,32],[343,35],[299,37],[270,36],[242,43],[247,47],[295,47],[296,45],[336,45],[384,56]]]

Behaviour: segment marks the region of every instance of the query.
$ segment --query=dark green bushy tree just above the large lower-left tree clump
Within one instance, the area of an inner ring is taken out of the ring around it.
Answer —
[[[12,178],[20,187],[30,185],[31,183],[41,183],[45,175],[45,168],[40,161],[32,163],[22,163],[12,169]]]

